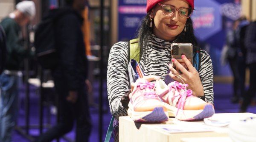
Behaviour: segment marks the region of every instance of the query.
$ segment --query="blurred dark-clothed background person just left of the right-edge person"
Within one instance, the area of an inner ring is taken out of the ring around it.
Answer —
[[[244,50],[244,46],[241,47],[240,30],[246,23],[246,18],[241,17],[233,22],[232,30],[227,32],[227,61],[233,74],[232,103],[238,103],[240,96],[244,94],[246,68],[244,55],[246,54],[246,50]]]

